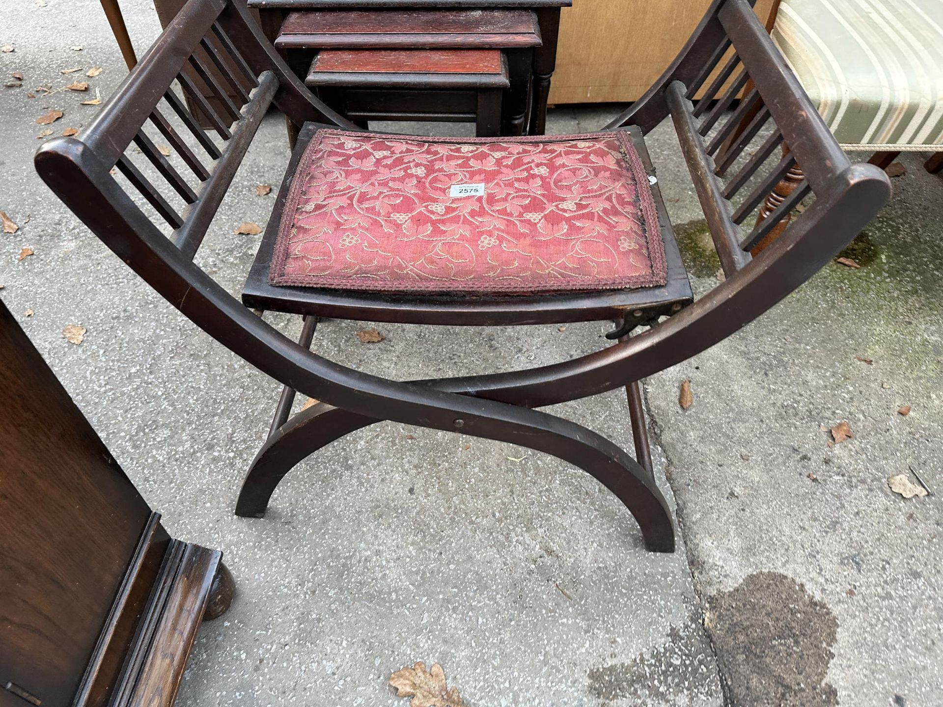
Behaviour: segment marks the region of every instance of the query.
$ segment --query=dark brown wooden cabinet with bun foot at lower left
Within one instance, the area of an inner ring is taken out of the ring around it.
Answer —
[[[0,302],[0,707],[167,707],[221,555],[174,540]]]

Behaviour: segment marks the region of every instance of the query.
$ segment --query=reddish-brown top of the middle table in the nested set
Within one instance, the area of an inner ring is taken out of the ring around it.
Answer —
[[[509,49],[540,46],[533,10],[291,12],[279,49]]]

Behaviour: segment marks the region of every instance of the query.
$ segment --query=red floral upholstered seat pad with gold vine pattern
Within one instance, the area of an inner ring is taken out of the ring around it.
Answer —
[[[484,185],[484,195],[451,196]],[[290,186],[273,285],[503,292],[664,285],[627,134],[409,139],[321,130]]]

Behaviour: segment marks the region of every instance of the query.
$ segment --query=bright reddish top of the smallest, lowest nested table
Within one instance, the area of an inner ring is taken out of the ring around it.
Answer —
[[[311,65],[313,73],[502,74],[501,52],[486,49],[439,51],[326,51]]]

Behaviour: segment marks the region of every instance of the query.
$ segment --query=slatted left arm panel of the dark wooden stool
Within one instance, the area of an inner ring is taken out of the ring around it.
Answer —
[[[218,21],[224,7],[184,6],[80,136],[190,259],[279,87],[249,68]]]

